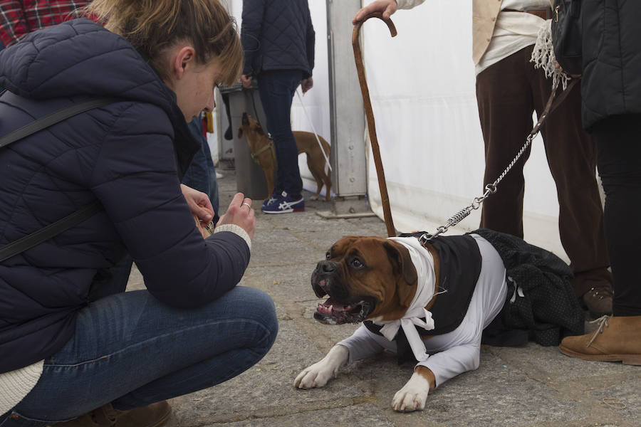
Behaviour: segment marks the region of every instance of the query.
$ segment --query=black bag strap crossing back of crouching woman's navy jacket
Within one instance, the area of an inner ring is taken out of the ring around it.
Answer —
[[[2,95],[2,93],[0,93],[0,95]],[[35,122],[31,122],[28,125],[25,125],[20,129],[11,132],[9,135],[2,137],[0,139],[0,148],[6,147],[12,142],[16,142],[19,139],[28,137],[29,135],[33,135],[36,132],[40,132],[41,130],[46,129],[51,125],[62,122],[63,120],[66,120],[69,117],[73,117],[74,115],[78,115],[81,112],[93,110],[93,108],[97,107],[103,107],[104,105],[108,105],[116,101],[118,101],[117,98],[95,98],[80,102],[79,104],[71,105],[70,107],[66,107],[58,111],[54,111],[50,115],[41,117]],[[38,231],[35,231],[31,234],[28,234],[27,236],[24,236],[23,238],[19,238],[18,240],[9,243],[6,246],[3,246],[2,248],[0,248],[0,262],[11,258],[14,255],[18,255],[19,253],[24,252],[29,248],[33,248],[33,246],[36,246],[43,241],[47,241],[53,236],[57,236],[63,231],[66,231],[69,228],[87,220],[102,209],[103,206],[100,204],[100,202],[95,201],[92,204],[88,204],[87,206],[78,209],[78,211],[73,212],[73,214],[69,214],[68,216],[56,221],[55,223],[46,226],[45,228],[41,228]]]

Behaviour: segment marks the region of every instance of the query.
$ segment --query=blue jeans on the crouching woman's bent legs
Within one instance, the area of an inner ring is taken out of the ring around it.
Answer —
[[[103,297],[78,312],[74,336],[0,426],[46,426],[109,402],[124,411],[220,384],[259,362],[277,332],[273,301],[254,288],[192,310],[146,290]]]

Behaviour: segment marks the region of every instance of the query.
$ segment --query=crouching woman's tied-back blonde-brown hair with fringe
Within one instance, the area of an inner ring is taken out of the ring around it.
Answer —
[[[194,46],[198,63],[219,60],[226,85],[241,74],[236,21],[218,0],[93,0],[85,14],[126,38],[162,80],[169,78],[167,48],[184,41]]]

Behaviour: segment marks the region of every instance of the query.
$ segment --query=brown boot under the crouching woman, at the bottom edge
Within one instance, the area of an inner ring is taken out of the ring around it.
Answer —
[[[129,411],[118,411],[106,404],[71,421],[58,423],[56,427],[157,427],[167,421],[171,413],[167,401]]]

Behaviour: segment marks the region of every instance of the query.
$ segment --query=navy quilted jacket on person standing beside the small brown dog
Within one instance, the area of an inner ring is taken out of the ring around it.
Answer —
[[[245,75],[314,68],[315,34],[307,0],[243,0]]]

